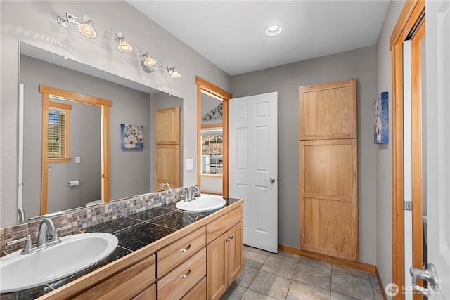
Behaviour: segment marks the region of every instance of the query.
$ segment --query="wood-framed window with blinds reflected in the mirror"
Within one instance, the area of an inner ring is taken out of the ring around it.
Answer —
[[[48,157],[51,162],[66,162],[70,159],[70,110],[72,105],[49,101]]]

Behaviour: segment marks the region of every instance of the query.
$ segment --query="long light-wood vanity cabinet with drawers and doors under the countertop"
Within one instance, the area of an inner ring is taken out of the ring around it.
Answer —
[[[241,203],[39,299],[219,299],[243,268]]]

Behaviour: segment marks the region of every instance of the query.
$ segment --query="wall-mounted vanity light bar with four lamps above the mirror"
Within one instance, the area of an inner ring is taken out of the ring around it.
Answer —
[[[147,52],[140,51],[136,46],[132,46],[125,39],[124,34],[122,32],[113,32],[112,30],[108,30],[108,28],[102,27],[101,25],[95,24],[93,20],[91,20],[87,15],[84,15],[83,18],[79,18],[72,13],[65,13],[64,16],[58,17],[58,24],[63,27],[68,27],[69,24],[75,24],[78,27],[79,32],[81,32],[84,37],[89,37],[90,39],[95,39],[97,33],[104,34],[110,39],[114,39],[117,41],[117,48],[122,52],[133,52],[141,61],[141,67],[144,72],[152,73],[155,72],[155,68],[159,68],[161,70],[165,70],[167,74],[169,74],[170,78],[179,78],[181,74],[175,67],[169,67],[167,65],[163,65],[159,63],[155,58],[148,56]]]

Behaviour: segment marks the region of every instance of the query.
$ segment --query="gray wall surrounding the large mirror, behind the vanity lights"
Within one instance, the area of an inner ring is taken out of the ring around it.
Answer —
[[[61,27],[56,18],[64,13],[89,15],[95,22],[112,30],[122,31],[130,43],[149,51],[166,65],[175,65],[179,79],[170,79],[167,72],[147,74],[139,59],[120,53],[114,41],[86,39],[75,26]],[[197,86],[195,76],[207,79],[226,91],[231,79],[224,71],[200,56],[136,11],[125,1],[0,1],[0,226],[16,223],[18,186],[18,41],[43,48],[71,60],[91,65],[105,72],[118,74],[184,100],[183,158],[194,159],[194,169],[183,171],[184,185],[197,183]],[[143,28],[145,30],[143,30]],[[114,141],[111,141],[115,143]],[[112,178],[113,179],[113,178]]]

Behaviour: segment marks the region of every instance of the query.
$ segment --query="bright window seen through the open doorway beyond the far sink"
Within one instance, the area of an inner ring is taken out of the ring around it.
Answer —
[[[222,176],[224,136],[221,127],[201,130],[202,174]]]

